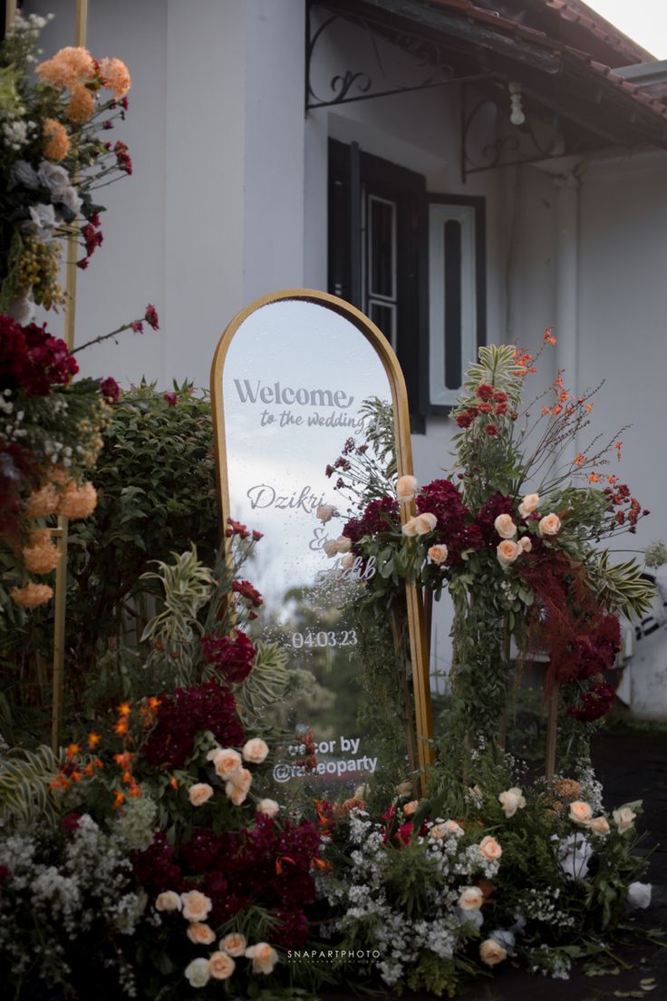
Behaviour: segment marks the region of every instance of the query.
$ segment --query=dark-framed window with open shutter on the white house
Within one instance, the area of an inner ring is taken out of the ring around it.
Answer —
[[[329,291],[391,342],[413,433],[447,414],[486,340],[484,199],[430,195],[405,167],[329,140]]]

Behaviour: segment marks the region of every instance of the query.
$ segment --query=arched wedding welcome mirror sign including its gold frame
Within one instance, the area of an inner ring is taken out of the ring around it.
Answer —
[[[359,514],[355,466],[366,479],[380,480],[392,465],[394,478],[412,471],[402,373],[387,340],[353,306],[289,290],[229,324],[213,362],[212,401],[223,525],[231,518],[263,536],[244,571],[264,598],[251,638],[277,642],[298,672],[297,691],[267,708],[267,724],[293,735],[274,780],[307,779],[322,794],[350,795],[378,768],[359,722],[354,615],[377,568],[340,540],[346,518]],[[406,760],[419,768],[428,760],[428,677],[414,589],[406,607],[417,738],[410,749],[406,737]]]

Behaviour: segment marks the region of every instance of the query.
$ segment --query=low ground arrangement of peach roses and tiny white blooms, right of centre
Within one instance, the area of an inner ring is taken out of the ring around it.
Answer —
[[[502,788],[523,781],[509,757],[486,778],[455,817],[444,796],[408,791],[381,817],[359,800],[331,809],[333,869],[318,877],[329,946],[365,957],[366,975],[399,994],[455,997],[508,961],[567,979],[573,958],[603,954],[601,934],[650,902],[633,854],[641,804],[604,814],[595,785],[572,780]]]

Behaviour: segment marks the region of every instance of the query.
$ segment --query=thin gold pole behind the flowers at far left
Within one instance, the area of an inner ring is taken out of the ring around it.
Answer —
[[[9,4],[7,12],[9,15]],[[14,4],[16,6],[16,4]],[[85,46],[88,26],[88,0],[76,0],[74,44]],[[72,223],[75,225],[75,223]],[[65,290],[65,342],[68,350],[75,343],[76,331],[76,233],[67,237],[67,264]],[[65,614],[67,604],[67,519],[58,517],[58,528],[53,535],[58,540],[60,559],[56,568],[53,624],[53,715],[51,720],[51,750],[58,755],[62,741],[63,704],[65,698]]]

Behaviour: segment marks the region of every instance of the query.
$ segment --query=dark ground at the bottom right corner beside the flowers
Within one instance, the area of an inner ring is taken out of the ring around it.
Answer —
[[[628,969],[613,976],[586,976],[572,972],[569,980],[535,977],[521,969],[499,970],[488,984],[475,983],[457,1001],[617,1001],[646,998],[667,1001],[667,936],[664,946],[648,941],[642,932],[667,931],[667,733],[651,734],[615,727],[603,733],[593,749],[594,764],[605,790],[605,805],[643,799],[643,826],[650,832],[646,849],[657,845],[646,877],[653,884],[653,903],[635,912],[639,935],[614,945],[613,952]],[[640,981],[653,978],[655,988],[644,991]],[[347,1001],[352,995],[330,994],[327,1001]],[[379,999],[383,995],[378,994]],[[384,997],[395,998],[393,994]],[[404,995],[429,1001],[429,995]]]

